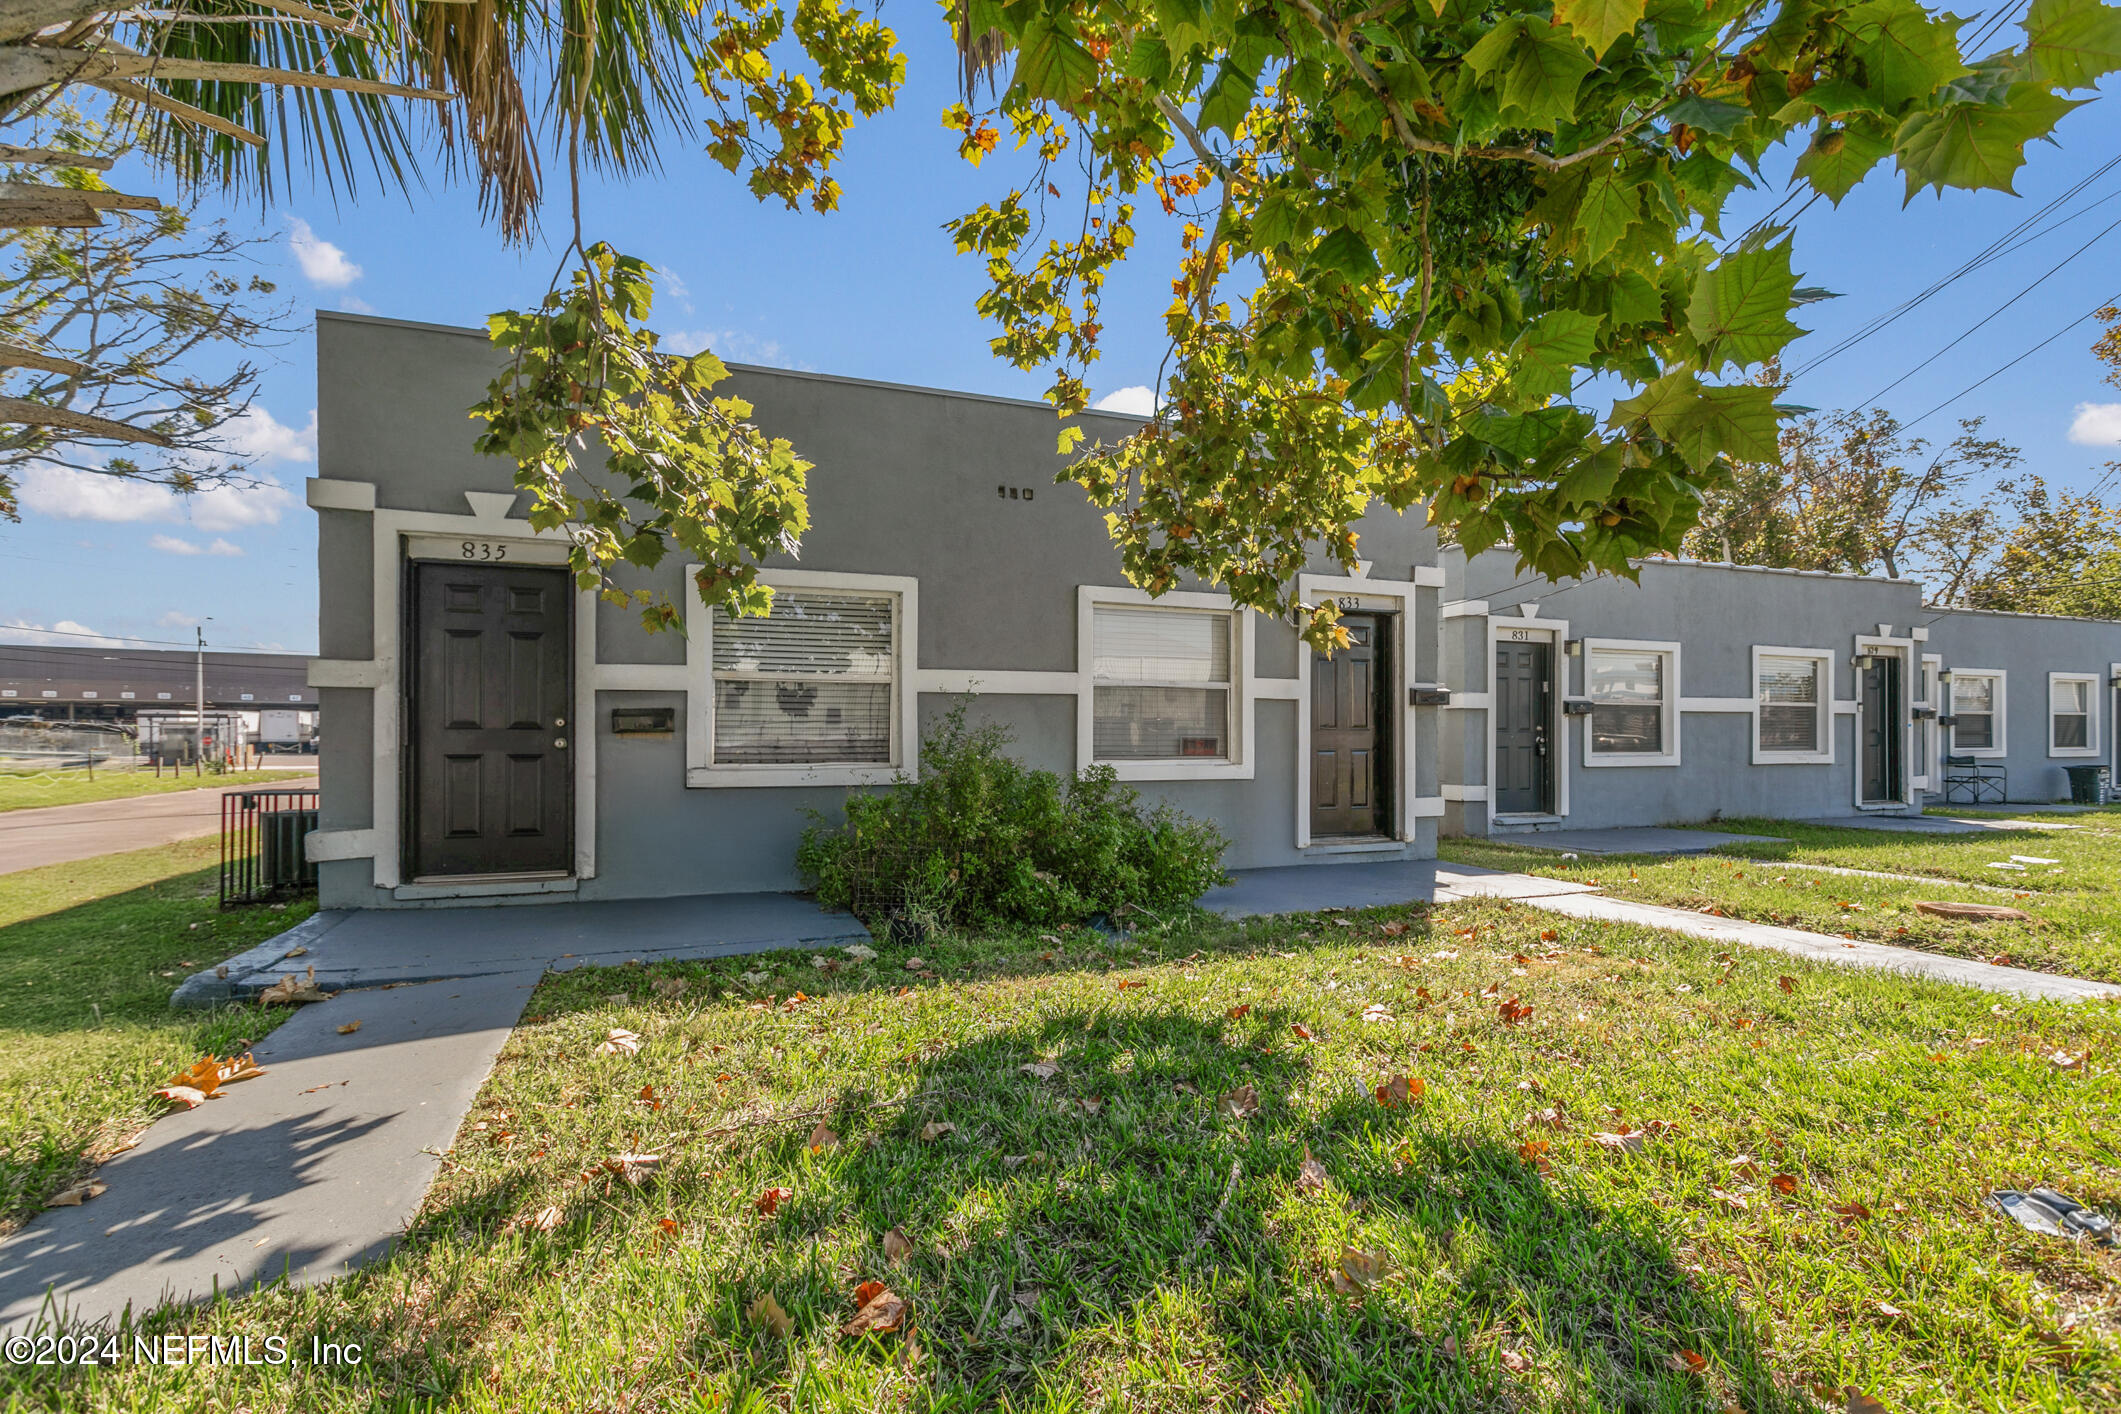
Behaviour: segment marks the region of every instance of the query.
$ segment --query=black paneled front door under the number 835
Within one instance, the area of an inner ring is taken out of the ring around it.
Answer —
[[[414,564],[411,581],[411,876],[573,869],[566,570]]]

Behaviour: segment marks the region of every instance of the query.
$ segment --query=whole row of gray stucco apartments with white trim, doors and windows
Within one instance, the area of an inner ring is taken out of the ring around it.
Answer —
[[[1920,810],[1947,746],[2011,799],[2113,759],[2121,623],[1682,562],[1550,585],[1381,509],[1360,577],[1302,579],[1357,638],[1328,659],[1224,594],[1128,587],[1046,405],[751,367],[728,390],[814,462],[802,555],[768,562],[766,619],[702,611],[683,564],[636,575],[687,606],[647,634],[473,452],[496,367],[479,331],[318,316],[327,907],[795,888],[808,812],[916,772],[954,702],[1033,765],[1215,820],[1232,869]]]

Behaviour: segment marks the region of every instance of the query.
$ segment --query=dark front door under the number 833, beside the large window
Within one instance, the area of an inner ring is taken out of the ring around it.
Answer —
[[[1349,644],[1311,655],[1311,837],[1391,833],[1389,619],[1345,613]]]

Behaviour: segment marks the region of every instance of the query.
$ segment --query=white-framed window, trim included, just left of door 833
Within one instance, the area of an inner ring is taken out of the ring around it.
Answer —
[[[1077,761],[1122,780],[1251,774],[1251,632],[1220,594],[1082,589]]]

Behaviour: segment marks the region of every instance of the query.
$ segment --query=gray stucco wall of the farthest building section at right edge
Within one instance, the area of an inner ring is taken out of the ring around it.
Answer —
[[[2009,789],[2015,801],[2068,799],[2064,767],[2115,763],[2115,689],[2108,683],[2121,664],[2121,623],[2108,619],[2055,619],[2045,615],[1932,611],[1930,649],[1947,668],[1996,668],[2004,672],[2004,746]],[[2049,750],[2047,674],[2093,674],[2093,717],[2098,755],[2057,757]]]

